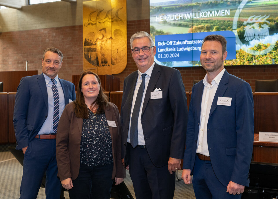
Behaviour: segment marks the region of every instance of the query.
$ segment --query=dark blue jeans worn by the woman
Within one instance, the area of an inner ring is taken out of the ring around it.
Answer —
[[[113,164],[86,166],[80,165],[78,177],[72,180],[69,189],[70,199],[109,199],[112,188]]]

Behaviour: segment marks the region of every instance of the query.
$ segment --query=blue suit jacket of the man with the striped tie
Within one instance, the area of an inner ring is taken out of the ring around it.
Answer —
[[[69,99],[75,100],[74,84],[59,79],[65,105]],[[38,134],[48,115],[48,95],[43,73],[30,77],[23,77],[17,87],[14,104],[14,132],[17,140],[17,149],[29,145],[29,142]]]

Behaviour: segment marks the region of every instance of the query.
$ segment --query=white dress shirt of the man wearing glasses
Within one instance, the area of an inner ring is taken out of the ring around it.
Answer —
[[[148,88],[148,84],[149,84],[149,81],[150,81],[150,78],[151,78],[151,73],[153,71],[153,67],[154,67],[154,62],[151,65],[151,67],[149,67],[149,69],[145,72],[145,74],[147,74],[145,76],[145,90],[144,90],[144,93],[143,93],[142,102],[141,102],[141,105],[140,105],[139,117],[138,117],[138,145],[146,145],[145,144],[145,139],[144,139],[144,134],[143,134],[143,128],[142,128],[142,124],[141,124],[141,115],[142,115],[142,108],[143,108],[143,103],[144,103],[144,99],[145,99],[145,95],[146,95],[146,90]],[[131,117],[132,117],[132,112],[133,112],[135,100],[136,100],[136,97],[137,97],[138,89],[140,87],[140,84],[142,83],[142,76],[141,76],[142,74],[143,73],[141,73],[138,70],[138,78],[137,78],[137,82],[136,82],[136,86],[135,86],[135,90],[134,90],[134,94],[133,94],[131,113],[130,113],[130,119],[129,119],[129,129],[128,129],[128,136],[127,136],[127,142],[129,142],[129,143],[130,143]]]

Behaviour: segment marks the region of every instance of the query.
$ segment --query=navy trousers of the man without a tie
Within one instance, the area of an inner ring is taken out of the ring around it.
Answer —
[[[225,175],[225,174],[223,174]],[[192,179],[196,199],[236,199],[241,194],[227,193],[227,187],[217,179],[211,166],[211,161],[200,160],[196,155]]]

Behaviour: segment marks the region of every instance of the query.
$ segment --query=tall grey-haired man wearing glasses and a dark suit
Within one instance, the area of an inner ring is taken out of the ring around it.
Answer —
[[[130,45],[138,70],[124,81],[122,158],[137,199],[173,198],[185,145],[184,84],[180,71],[154,62],[156,47],[147,32],[135,33]]]

